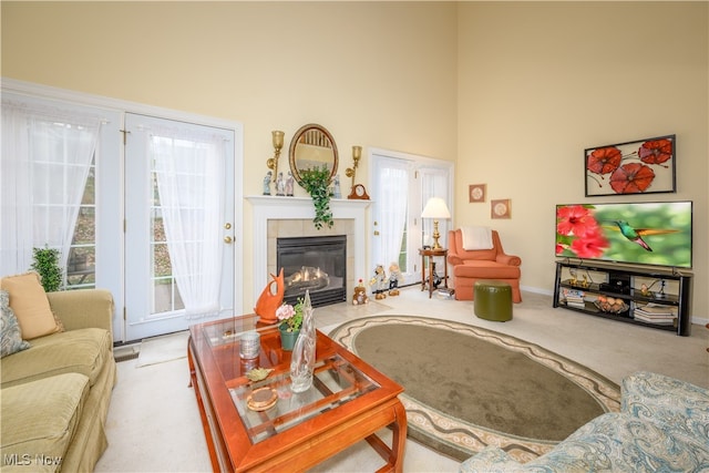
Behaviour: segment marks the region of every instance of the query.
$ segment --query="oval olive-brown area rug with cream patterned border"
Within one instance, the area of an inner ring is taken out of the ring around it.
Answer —
[[[603,376],[479,327],[377,316],[330,337],[404,388],[409,436],[459,460],[496,445],[526,462],[620,407]]]

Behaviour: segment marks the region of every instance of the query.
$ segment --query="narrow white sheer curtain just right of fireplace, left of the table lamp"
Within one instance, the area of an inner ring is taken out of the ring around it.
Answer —
[[[378,260],[389,268],[392,261],[399,263],[399,254],[407,224],[409,203],[409,163],[403,160],[382,158],[377,178],[377,205],[381,208],[379,235],[381,238],[380,254],[374,255]]]

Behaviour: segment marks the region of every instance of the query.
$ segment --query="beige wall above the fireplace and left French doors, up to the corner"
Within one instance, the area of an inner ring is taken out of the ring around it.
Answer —
[[[242,122],[244,195],[261,193],[271,130],[286,133],[287,168],[292,134],[319,123],[346,183],[352,145],[455,158],[455,14],[438,2],[3,1],[2,75]],[[364,158],[358,181],[368,172]],[[245,277],[245,311],[266,282]]]

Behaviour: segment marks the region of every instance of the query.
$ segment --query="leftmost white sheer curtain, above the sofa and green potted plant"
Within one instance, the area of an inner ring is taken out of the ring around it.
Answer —
[[[100,127],[70,106],[2,99],[0,274],[27,271],[44,246],[66,267]]]

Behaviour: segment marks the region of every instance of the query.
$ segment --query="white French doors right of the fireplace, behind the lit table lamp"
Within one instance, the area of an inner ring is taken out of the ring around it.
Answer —
[[[431,245],[433,223],[421,213],[430,197],[442,197],[453,213],[453,164],[386,150],[371,150],[372,225],[370,265],[388,268],[397,263],[404,284],[421,279],[418,249]],[[440,220],[439,233],[445,246],[451,222]]]

